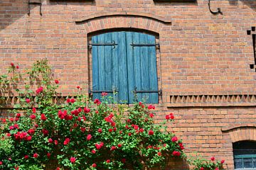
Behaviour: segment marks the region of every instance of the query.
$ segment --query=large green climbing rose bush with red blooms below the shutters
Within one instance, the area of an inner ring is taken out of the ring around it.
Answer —
[[[185,157],[182,141],[164,125],[174,115],[155,125],[154,106],[109,104],[107,93],[102,101],[78,95],[57,105],[58,80],[47,61],[26,74],[37,88],[18,90],[14,118],[2,119],[0,169],[148,169]]]

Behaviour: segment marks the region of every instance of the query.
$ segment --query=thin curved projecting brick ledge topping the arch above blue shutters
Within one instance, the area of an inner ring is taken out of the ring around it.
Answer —
[[[156,16],[151,13],[141,13],[138,11],[112,11],[112,12],[100,12],[100,13],[93,13],[92,15],[85,16],[82,18],[76,18],[75,23],[86,23],[88,21],[95,20],[97,18],[105,18],[105,17],[115,17],[115,16],[137,16],[143,18],[149,18],[154,21],[159,21],[160,23],[171,24],[171,19],[164,18],[161,16]]]

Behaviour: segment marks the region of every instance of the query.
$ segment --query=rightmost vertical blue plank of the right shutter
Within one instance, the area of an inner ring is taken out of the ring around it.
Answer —
[[[156,40],[155,37],[152,35],[148,35],[148,43],[155,44]],[[156,47],[149,46],[148,47],[148,56],[149,56],[149,89],[157,91],[158,84],[157,84],[157,69],[156,69]],[[149,94],[149,103],[158,103],[158,94],[151,93]]]

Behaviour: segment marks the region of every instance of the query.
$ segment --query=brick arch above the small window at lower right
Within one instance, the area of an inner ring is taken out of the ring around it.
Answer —
[[[233,143],[239,142],[242,140],[256,141],[256,128],[255,127],[235,128],[228,133],[229,133],[230,139]]]

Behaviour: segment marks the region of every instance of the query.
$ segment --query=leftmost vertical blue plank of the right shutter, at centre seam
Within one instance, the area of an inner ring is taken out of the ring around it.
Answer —
[[[135,83],[135,72],[134,72],[134,51],[132,47],[133,42],[133,35],[132,32],[126,33],[126,47],[127,47],[127,72],[128,72],[128,97],[129,97],[129,103],[134,103],[134,94],[132,91],[134,91]]]

